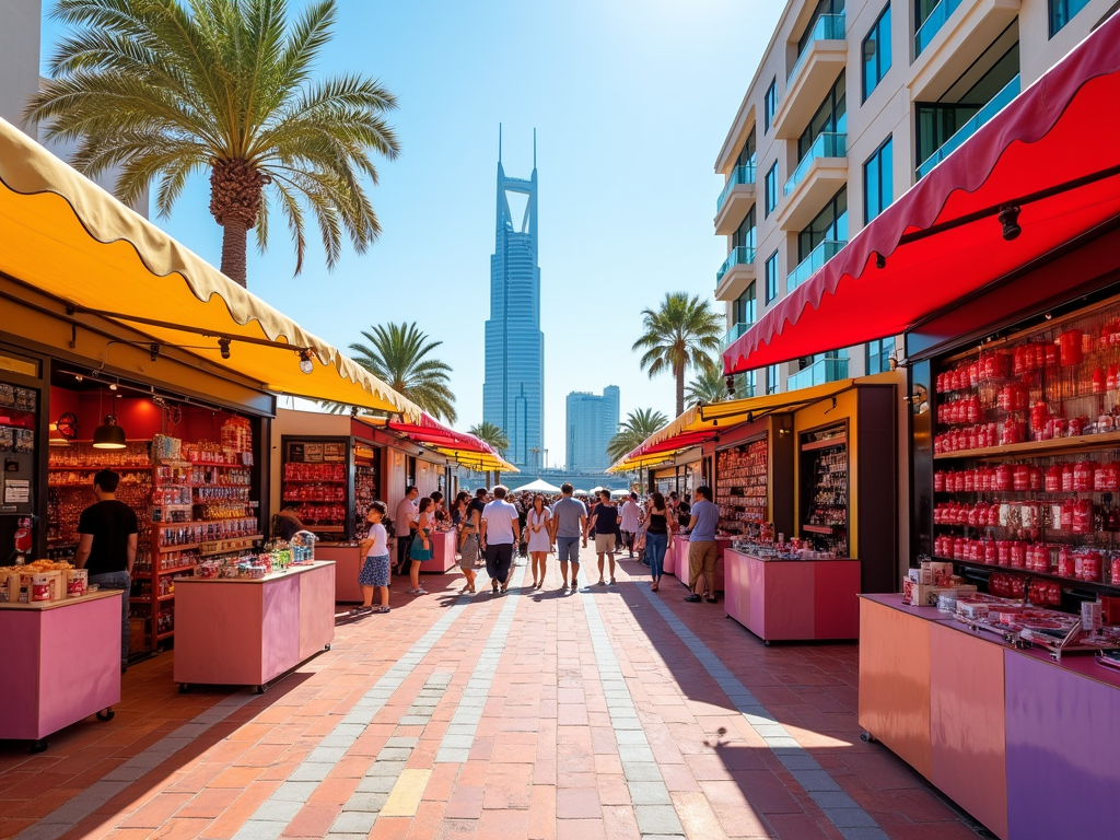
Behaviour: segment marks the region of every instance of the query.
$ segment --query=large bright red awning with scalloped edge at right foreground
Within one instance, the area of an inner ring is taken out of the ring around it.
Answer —
[[[1023,233],[1005,241],[996,213],[1019,202]],[[970,214],[982,217],[967,221]],[[1118,218],[1120,15],[1113,15],[759,318],[725,351],[724,370],[905,333]],[[886,258],[883,268],[878,255]]]

